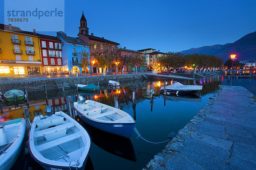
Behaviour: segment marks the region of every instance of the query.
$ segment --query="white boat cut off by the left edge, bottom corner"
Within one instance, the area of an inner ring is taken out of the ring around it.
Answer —
[[[26,130],[24,119],[14,119],[0,125],[0,170],[9,170],[22,150]]]

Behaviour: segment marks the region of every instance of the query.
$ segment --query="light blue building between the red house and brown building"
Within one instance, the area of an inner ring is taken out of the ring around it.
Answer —
[[[68,37],[62,31],[57,32],[57,38],[61,40],[62,45],[62,63],[64,66],[64,71],[71,71],[71,74],[90,72],[90,66],[81,68],[78,65],[79,52],[86,51],[90,53],[89,44],[81,40],[79,37]]]

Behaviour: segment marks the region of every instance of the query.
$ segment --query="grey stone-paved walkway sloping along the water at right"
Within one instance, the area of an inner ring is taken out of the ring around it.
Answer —
[[[255,170],[256,97],[220,86],[146,170]]]

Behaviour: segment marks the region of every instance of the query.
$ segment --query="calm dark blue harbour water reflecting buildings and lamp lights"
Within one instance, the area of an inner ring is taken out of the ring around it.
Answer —
[[[167,85],[177,82],[176,80],[168,81]],[[177,133],[183,128],[190,119],[203,108],[217,91],[218,85],[229,85],[230,79],[222,77],[210,77],[198,79],[195,81],[179,81],[186,85],[203,85],[200,97],[197,99],[189,99],[182,97],[166,97],[160,95],[160,86],[163,81],[144,81],[144,82],[128,82],[120,86],[118,89],[103,87],[98,94],[79,94],[86,99],[95,100],[111,106],[114,106],[114,96],[117,96],[119,107],[134,117],[136,128],[148,141],[163,142],[168,140],[168,134]],[[256,79],[233,79],[233,85],[241,85],[256,94]],[[150,98],[151,86],[154,89],[154,97]],[[73,95],[62,96],[50,93],[48,104],[52,105],[55,111],[64,111],[70,113],[70,101],[75,101],[76,92],[70,92]],[[133,98],[133,93],[135,96]],[[33,96],[34,95],[34,96]],[[55,96],[55,97],[50,97]],[[58,96],[58,98],[56,98]],[[38,99],[37,99],[38,97]],[[31,102],[29,102],[31,113],[31,121],[34,116],[44,113],[46,100],[44,93],[31,94]],[[3,109],[6,119],[17,119],[23,117],[22,105],[20,108],[9,106]],[[80,122],[80,121],[79,121]],[[80,122],[88,131],[92,139],[92,147],[90,151],[90,160],[87,169],[94,170],[141,170],[153,156],[160,152],[168,142],[153,144],[143,139],[137,138],[137,134],[133,133],[131,139],[121,136],[112,135],[103,131],[90,127]],[[32,166],[33,169],[41,169],[35,162],[29,159],[30,156],[20,156],[20,161],[24,166]],[[17,162],[15,169],[20,166]],[[26,162],[26,163],[24,163]]]

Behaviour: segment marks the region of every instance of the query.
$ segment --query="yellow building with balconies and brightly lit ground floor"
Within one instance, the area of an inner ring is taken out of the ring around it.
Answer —
[[[42,74],[37,34],[0,24],[0,76]]]

